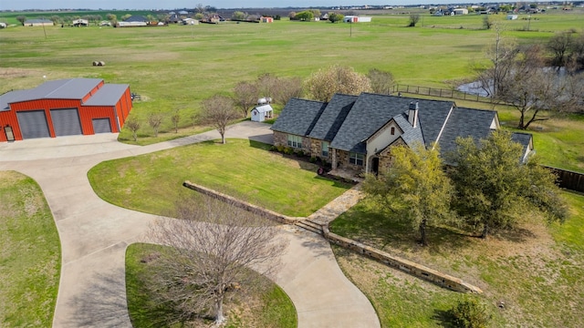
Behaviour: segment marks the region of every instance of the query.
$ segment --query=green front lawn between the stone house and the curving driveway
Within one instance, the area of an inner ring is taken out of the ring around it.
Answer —
[[[288,216],[308,216],[349,188],[320,178],[318,166],[267,147],[242,139],[203,142],[102,162],[89,170],[89,181],[113,204],[171,216],[176,201],[193,195],[184,180]]]

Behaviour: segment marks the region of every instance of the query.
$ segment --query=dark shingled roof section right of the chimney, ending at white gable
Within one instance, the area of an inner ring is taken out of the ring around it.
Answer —
[[[487,138],[493,129],[498,128],[496,125],[492,127],[495,119],[494,110],[454,108],[438,139],[441,152],[446,154],[456,150],[458,137],[472,137],[474,140]]]

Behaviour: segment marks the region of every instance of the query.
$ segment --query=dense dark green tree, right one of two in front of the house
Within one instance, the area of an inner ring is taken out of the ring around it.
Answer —
[[[525,206],[535,206],[548,220],[564,220],[567,206],[555,185],[555,176],[540,168],[537,159],[521,161],[523,147],[507,131],[497,130],[477,144],[459,138],[452,172],[454,209],[474,229],[512,228]]]

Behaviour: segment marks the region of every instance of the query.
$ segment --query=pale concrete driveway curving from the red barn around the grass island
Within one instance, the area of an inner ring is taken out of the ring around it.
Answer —
[[[243,122],[228,138],[271,142],[268,126]],[[0,144],[0,170],[14,169],[36,179],[57,222],[62,269],[55,327],[130,327],[124,256],[142,241],[156,216],[111,205],[93,192],[88,170],[119,159],[219,138],[215,131],[137,147],[120,144],[117,135],[34,139]],[[339,270],[327,241],[284,227],[290,243],[276,276],[298,314],[298,327],[379,327],[367,298]]]

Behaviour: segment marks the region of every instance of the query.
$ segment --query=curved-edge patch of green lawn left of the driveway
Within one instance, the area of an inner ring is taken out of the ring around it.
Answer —
[[[0,326],[50,327],[61,249],[47,200],[14,171],[0,171],[0,200]]]

